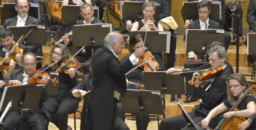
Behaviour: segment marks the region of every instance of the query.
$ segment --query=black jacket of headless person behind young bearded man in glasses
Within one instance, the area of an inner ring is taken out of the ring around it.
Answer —
[[[188,0],[187,2],[194,2],[198,0]],[[226,24],[226,6],[225,6],[225,0],[213,0],[213,1],[221,1],[221,19],[213,19],[214,21],[220,23],[220,25]],[[183,11],[181,9],[181,15],[183,14]],[[185,19],[183,19],[185,21]]]

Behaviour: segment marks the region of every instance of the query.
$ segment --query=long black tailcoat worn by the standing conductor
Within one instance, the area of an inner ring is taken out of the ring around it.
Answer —
[[[87,112],[93,113],[93,116],[88,117],[91,121],[91,129],[111,129],[113,110],[114,110],[114,94],[116,90],[125,95],[126,81],[125,73],[133,67],[129,58],[120,63],[107,47],[99,48],[95,51],[92,58],[92,90],[90,97],[83,107],[83,114],[81,119],[81,129],[89,129],[86,124],[84,116]],[[89,105],[89,106],[88,106]],[[101,125],[98,125],[101,124]]]

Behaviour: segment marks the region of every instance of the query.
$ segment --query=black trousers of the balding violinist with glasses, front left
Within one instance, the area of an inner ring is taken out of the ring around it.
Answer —
[[[48,124],[47,117],[43,111],[33,114],[30,110],[23,111],[23,123],[27,123],[29,129],[45,130]],[[21,125],[20,111],[11,111],[7,114],[4,129],[17,129]],[[25,128],[26,125],[23,125]]]

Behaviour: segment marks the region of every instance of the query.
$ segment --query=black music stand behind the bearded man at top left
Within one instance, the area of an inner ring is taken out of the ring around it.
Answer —
[[[28,15],[40,20],[40,9],[38,3],[28,3],[29,10]],[[17,11],[15,10],[15,3],[3,3],[1,10],[1,25],[4,24],[6,19],[13,18],[17,16]]]

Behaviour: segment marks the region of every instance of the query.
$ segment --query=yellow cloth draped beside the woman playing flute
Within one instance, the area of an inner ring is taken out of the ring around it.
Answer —
[[[176,30],[178,28],[178,25],[172,16],[163,18],[158,21],[158,23],[160,23],[163,28],[167,30],[170,30],[170,28]]]

